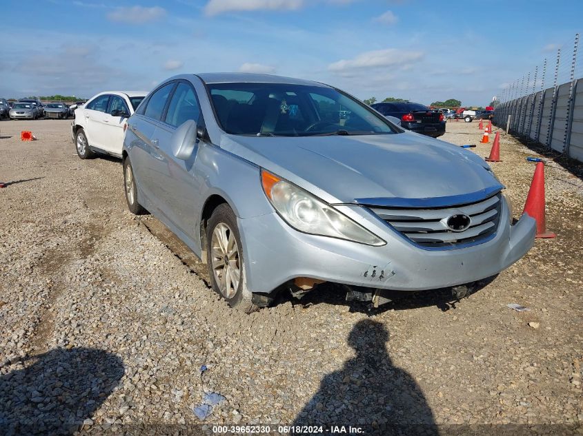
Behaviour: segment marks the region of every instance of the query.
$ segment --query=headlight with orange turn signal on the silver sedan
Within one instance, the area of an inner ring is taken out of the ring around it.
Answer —
[[[386,244],[384,240],[308,191],[264,169],[261,169],[261,185],[279,216],[296,230],[377,247]]]

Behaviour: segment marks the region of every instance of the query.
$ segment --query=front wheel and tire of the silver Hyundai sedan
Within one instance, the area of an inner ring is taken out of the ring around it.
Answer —
[[[233,249],[235,253],[229,255]],[[246,285],[243,245],[237,227],[237,217],[226,203],[217,206],[208,220],[206,253],[208,276],[213,290],[221,295],[230,307],[245,313],[257,311],[259,308],[253,304],[253,294]],[[229,268],[227,271],[226,264]],[[237,282],[233,282],[234,280]]]

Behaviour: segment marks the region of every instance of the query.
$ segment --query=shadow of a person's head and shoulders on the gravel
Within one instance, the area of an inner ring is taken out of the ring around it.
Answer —
[[[348,335],[355,357],[322,379],[293,426],[324,426],[322,434],[330,434],[333,426],[344,426],[351,434],[351,426],[366,435],[439,435],[421,389],[410,374],[393,365],[386,342],[383,324],[357,322]],[[297,427],[295,431],[302,434]]]

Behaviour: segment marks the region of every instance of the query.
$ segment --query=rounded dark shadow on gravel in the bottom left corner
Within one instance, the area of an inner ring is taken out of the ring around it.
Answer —
[[[1,372],[1,435],[72,435],[124,372],[120,357],[88,348],[52,349],[21,363],[26,367]]]

